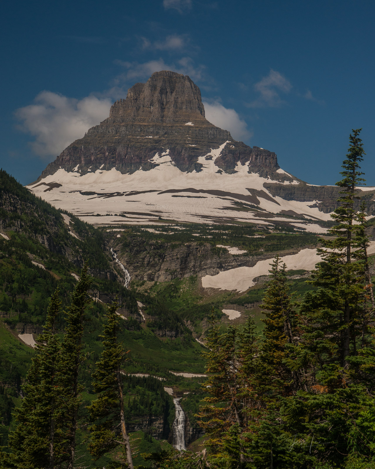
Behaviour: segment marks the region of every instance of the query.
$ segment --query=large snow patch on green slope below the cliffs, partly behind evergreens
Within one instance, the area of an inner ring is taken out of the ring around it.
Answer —
[[[217,275],[202,277],[203,288],[220,288],[221,290],[246,291],[252,287],[255,277],[268,275],[270,263],[273,257],[258,261],[253,267],[236,267],[234,269],[219,272]],[[313,270],[315,264],[321,261],[316,249],[302,249],[297,254],[281,257],[281,262],[286,264],[287,270],[304,269]]]

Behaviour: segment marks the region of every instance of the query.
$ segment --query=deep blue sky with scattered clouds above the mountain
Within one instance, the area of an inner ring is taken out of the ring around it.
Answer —
[[[280,166],[334,184],[352,128],[375,185],[372,1],[6,2],[0,166],[26,184],[136,82],[171,69]]]

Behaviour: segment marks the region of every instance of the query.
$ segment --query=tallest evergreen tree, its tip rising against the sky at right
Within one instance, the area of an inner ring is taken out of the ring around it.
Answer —
[[[281,416],[303,441],[314,436],[316,461],[335,467],[345,465],[351,444],[353,452],[360,450],[360,441],[362,455],[374,456],[366,446],[366,439],[375,437],[371,419],[364,431],[361,417],[373,415],[375,349],[364,205],[358,213],[355,208],[356,186],[363,182],[359,132],[350,136],[344,179],[337,183],[344,190],[333,214],[334,238],[321,240],[323,261],[312,281],[316,290],[304,296],[298,315],[300,337],[293,354],[295,366],[304,370],[307,390],[284,400]]]

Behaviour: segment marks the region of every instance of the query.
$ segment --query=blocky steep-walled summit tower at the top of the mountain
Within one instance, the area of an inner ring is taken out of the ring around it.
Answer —
[[[108,122],[212,125],[205,119],[201,91],[187,76],[163,70],[146,83],[135,83],[126,99],[111,107]]]

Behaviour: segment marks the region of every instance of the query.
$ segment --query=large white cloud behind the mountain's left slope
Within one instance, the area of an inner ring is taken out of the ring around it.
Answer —
[[[87,96],[81,100],[42,91],[34,104],[15,112],[20,129],[35,137],[32,150],[44,159],[54,159],[90,127],[109,116],[112,100]]]

